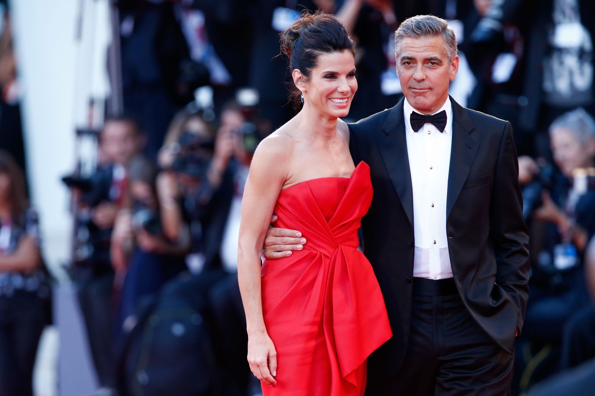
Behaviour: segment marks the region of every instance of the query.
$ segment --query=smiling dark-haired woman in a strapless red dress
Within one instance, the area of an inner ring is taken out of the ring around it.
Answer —
[[[246,182],[238,278],[248,362],[265,396],[359,396],[367,357],[392,332],[357,249],[372,200],[369,167],[353,164],[339,119],[358,88],[355,45],[333,16],[307,14],[283,32],[281,49],[303,107],[261,142]],[[301,249],[261,267],[273,213],[275,227],[303,230],[288,235]]]

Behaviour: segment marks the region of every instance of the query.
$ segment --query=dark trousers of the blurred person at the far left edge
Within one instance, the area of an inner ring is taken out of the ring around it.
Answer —
[[[0,298],[0,395],[33,396],[33,366],[45,327],[41,303],[26,292]]]

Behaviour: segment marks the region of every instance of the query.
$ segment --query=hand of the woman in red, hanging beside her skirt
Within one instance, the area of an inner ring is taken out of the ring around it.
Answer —
[[[248,335],[248,363],[256,378],[270,387],[277,385],[277,351],[267,332]]]

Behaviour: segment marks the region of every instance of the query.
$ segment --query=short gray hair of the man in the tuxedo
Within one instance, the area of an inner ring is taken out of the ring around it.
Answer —
[[[434,17],[434,15],[417,15],[417,17],[407,18],[400,24],[397,31],[394,32],[394,50],[397,57],[399,56],[401,41],[405,37],[432,36],[442,36],[444,50],[446,50],[450,63],[458,52],[455,31],[446,20]]]

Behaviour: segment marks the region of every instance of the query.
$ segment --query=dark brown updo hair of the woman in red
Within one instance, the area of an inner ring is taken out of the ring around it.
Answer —
[[[333,15],[324,12],[303,14],[281,32],[281,51],[287,56],[289,71],[299,69],[306,78],[317,66],[318,56],[345,50],[355,55],[355,43],[345,26]],[[295,87],[291,91],[292,99],[299,106],[301,92]]]

